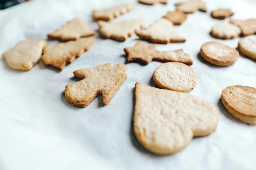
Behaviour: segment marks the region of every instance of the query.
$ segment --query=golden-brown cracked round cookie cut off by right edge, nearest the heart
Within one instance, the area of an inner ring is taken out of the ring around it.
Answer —
[[[222,91],[221,100],[235,118],[256,124],[256,89],[248,86],[229,86]]]

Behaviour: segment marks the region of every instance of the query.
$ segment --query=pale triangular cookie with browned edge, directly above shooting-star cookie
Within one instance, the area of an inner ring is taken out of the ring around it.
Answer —
[[[173,23],[166,18],[155,21],[148,28],[136,31],[142,39],[151,40],[154,43],[168,44],[185,42],[186,39],[179,35]]]

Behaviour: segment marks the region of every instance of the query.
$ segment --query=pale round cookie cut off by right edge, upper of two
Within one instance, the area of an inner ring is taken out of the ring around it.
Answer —
[[[242,54],[256,60],[256,38],[240,39],[238,48]]]

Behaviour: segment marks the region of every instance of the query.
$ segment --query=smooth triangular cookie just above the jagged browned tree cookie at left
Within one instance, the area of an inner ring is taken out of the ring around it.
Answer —
[[[63,41],[77,40],[81,37],[94,35],[95,31],[91,30],[85,21],[80,18],[75,18],[68,21],[55,32],[48,34],[48,38],[60,39]]]

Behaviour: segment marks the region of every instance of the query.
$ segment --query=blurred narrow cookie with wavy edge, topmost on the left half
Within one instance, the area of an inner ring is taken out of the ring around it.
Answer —
[[[134,4],[130,3],[130,4],[119,5],[115,7],[106,8],[106,9],[101,9],[101,10],[94,10],[93,17],[94,17],[94,20],[110,21],[114,18],[119,17],[122,14],[129,12],[133,8],[134,8]]]

